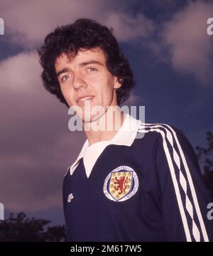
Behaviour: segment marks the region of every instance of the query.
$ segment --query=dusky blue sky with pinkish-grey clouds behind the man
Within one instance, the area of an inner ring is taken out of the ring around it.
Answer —
[[[146,122],[173,124],[192,146],[212,130],[213,1],[7,0],[0,3],[0,202],[6,215],[64,223],[62,179],[85,137],[70,132],[67,107],[45,91],[36,48],[56,26],[93,18],[114,28]]]

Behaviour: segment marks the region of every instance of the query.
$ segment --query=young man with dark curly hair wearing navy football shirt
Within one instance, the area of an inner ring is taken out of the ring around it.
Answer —
[[[118,107],[134,82],[111,31],[80,18],[46,36],[38,53],[45,88],[75,108],[87,136],[63,183],[67,240],[211,240],[211,198],[190,143]]]

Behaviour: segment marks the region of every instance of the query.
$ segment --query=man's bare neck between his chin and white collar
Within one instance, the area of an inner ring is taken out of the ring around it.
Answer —
[[[111,140],[124,123],[124,113],[116,108],[107,110],[94,122],[83,123],[89,146],[96,142]]]

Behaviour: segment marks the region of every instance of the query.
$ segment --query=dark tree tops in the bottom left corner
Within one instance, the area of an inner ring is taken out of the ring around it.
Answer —
[[[50,220],[27,218],[21,212],[13,213],[0,222],[0,241],[12,242],[49,242],[65,241],[65,225],[48,226]]]

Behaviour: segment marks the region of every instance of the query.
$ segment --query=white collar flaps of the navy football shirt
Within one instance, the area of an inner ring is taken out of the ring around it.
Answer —
[[[124,145],[124,146],[131,146],[133,144],[134,139],[136,138],[138,128],[140,127],[141,120],[135,119],[130,114],[125,114],[124,116],[124,123],[121,125],[119,131],[114,135],[114,137],[108,142],[108,145],[115,144],[115,145]],[[67,171],[70,170],[70,175],[73,174],[77,165],[84,157],[85,151],[89,146],[88,139],[84,142],[82,146],[82,150],[80,151],[79,156],[75,160],[75,162],[70,166]]]

